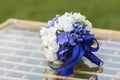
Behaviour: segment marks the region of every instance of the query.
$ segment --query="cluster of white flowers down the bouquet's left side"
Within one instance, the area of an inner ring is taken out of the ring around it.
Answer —
[[[42,52],[49,61],[57,60],[58,43],[56,42],[56,28],[42,28],[40,31]]]

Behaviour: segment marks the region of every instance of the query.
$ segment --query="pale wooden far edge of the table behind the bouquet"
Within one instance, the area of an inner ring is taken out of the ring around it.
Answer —
[[[30,29],[30,30],[40,30],[41,27],[47,27],[48,24],[45,22],[27,21],[19,19],[8,19],[6,22],[0,25],[0,29],[4,28],[8,24],[14,24],[17,28]],[[21,25],[21,26],[19,26]],[[115,30],[105,30],[105,29],[92,29],[92,33],[99,39],[115,39],[120,40],[120,31]]]

